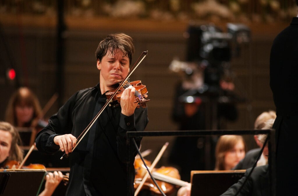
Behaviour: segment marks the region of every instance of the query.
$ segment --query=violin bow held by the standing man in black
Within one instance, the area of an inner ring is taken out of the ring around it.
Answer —
[[[103,105],[103,108],[100,109],[100,111],[97,113],[97,115],[93,118],[93,120],[89,123],[89,125],[84,129],[84,131],[79,135],[79,137],[77,137],[77,143],[75,145],[75,147],[72,148],[72,151],[75,150],[75,148],[77,147],[77,145],[81,142],[81,140],[83,139],[83,137],[85,137],[85,135],[87,134],[87,132],[89,131],[89,129],[92,127],[92,125],[95,123],[95,121],[97,120],[97,118],[101,115],[101,113],[103,113],[103,110],[105,110],[105,108],[108,106],[108,104],[110,103],[110,101],[113,99],[113,97],[116,95],[116,93],[118,92],[118,90],[121,88],[121,86],[125,83],[126,80],[128,80],[128,78],[131,76],[131,74],[134,72],[134,70],[136,70],[136,68],[139,66],[139,64],[141,64],[141,62],[145,59],[145,57],[147,56],[148,51],[144,51],[142,52],[142,54],[139,56],[138,60],[135,62],[134,66],[131,68],[131,70],[128,72],[128,75],[125,77],[125,79],[120,83],[120,85],[118,86],[118,88],[116,89],[116,91],[114,92],[114,94],[107,100],[107,102],[105,103],[105,105]],[[143,57],[142,57],[143,56]],[[141,59],[142,57],[142,59]],[[141,60],[140,60],[141,59]],[[69,154],[71,152],[69,152],[68,154],[64,153],[62,155],[62,157],[60,158],[61,160],[64,157],[68,157]]]

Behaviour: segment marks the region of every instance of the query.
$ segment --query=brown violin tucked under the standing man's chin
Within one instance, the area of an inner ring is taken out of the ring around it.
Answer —
[[[146,108],[147,107],[146,102],[148,102],[150,99],[148,100],[145,99],[148,97],[147,95],[148,90],[146,86],[141,83],[141,80],[136,80],[133,82],[128,82],[126,80],[116,93],[115,93],[116,89],[106,92],[105,96],[107,97],[107,99],[110,99],[111,96],[115,94],[111,99],[110,106],[116,107],[120,104],[121,95],[124,89],[129,86],[133,86],[134,88],[136,88],[135,96],[136,96],[136,102],[138,102],[137,108],[139,108],[140,106],[142,106],[143,108]]]

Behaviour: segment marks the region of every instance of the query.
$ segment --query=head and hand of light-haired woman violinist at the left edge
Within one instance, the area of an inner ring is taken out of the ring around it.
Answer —
[[[8,122],[0,122],[0,167],[6,169],[9,161],[21,162],[23,160],[23,152],[19,147],[21,139],[18,131]],[[63,179],[60,171],[48,173],[46,175],[46,183],[44,190],[39,196],[50,196],[55,191],[58,184]]]

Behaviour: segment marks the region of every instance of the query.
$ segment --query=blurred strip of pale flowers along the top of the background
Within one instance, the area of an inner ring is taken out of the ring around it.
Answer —
[[[65,13],[80,17],[154,20],[289,21],[298,7],[290,0],[66,0]],[[1,0],[1,13],[54,15],[56,1]]]

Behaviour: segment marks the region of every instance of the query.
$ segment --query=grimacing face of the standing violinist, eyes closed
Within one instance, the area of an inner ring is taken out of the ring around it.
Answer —
[[[100,70],[100,83],[104,87],[121,82],[129,72],[129,58],[119,49],[114,50],[115,55],[108,52],[101,61],[97,59],[97,69]]]

